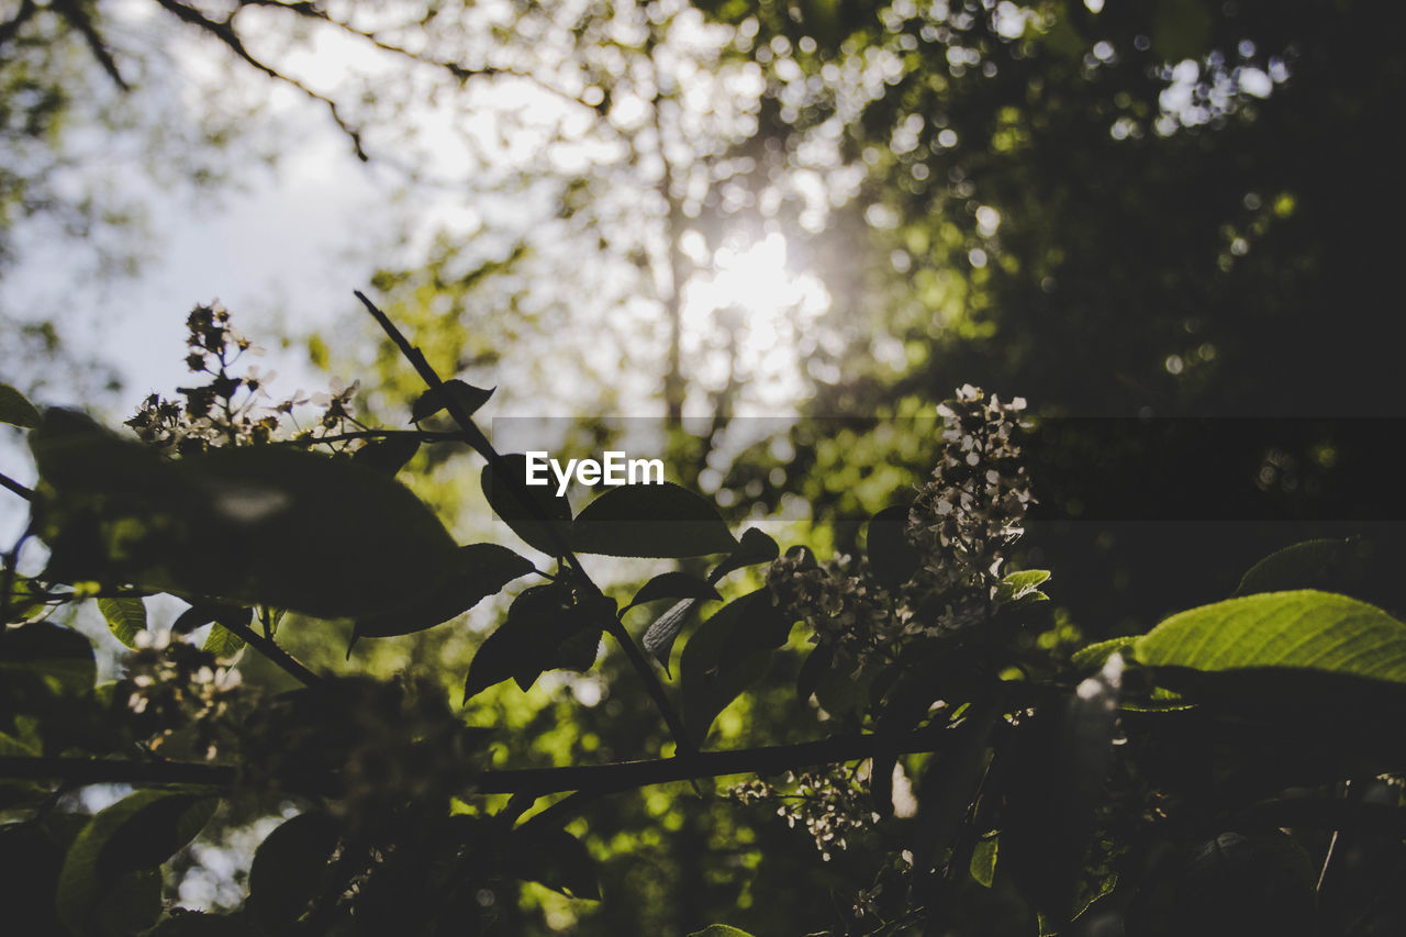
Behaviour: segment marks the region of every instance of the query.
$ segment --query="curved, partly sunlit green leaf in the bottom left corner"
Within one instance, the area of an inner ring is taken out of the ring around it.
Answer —
[[[195,839],[217,805],[217,798],[194,793],[138,791],[94,815],[69,847],[59,872],[56,900],[65,926],[76,934],[91,933],[94,926],[107,933],[111,924],[104,927],[104,919],[121,919],[122,927],[135,930],[149,927],[160,909],[156,867]],[[135,920],[141,909],[124,905],[118,892],[148,886],[145,879],[152,872],[157,900],[149,917]],[[134,874],[135,879],[127,879]],[[132,927],[132,922],[138,926]]]

